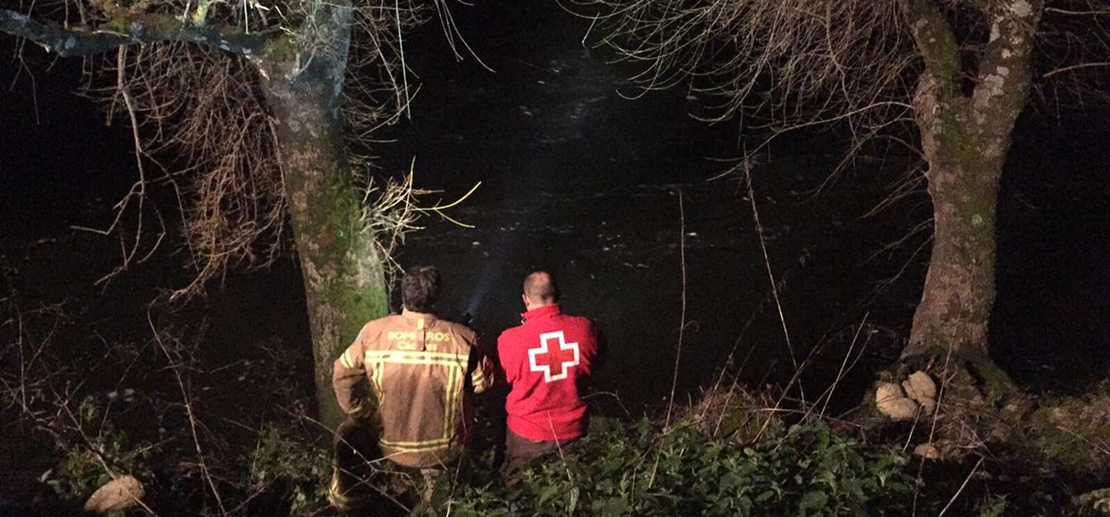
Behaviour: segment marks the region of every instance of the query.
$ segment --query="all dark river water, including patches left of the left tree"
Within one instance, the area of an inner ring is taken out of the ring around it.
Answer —
[[[885,166],[860,160],[817,195],[835,163],[836,150],[824,144],[833,139],[784,141],[755,168],[757,226],[745,184],[705,181],[727,168],[714,159],[740,145],[735,125],[688,116],[713,100],[682,91],[624,99],[637,93],[624,82],[634,69],[610,64],[613,55],[592,44],[596,34],[583,44],[589,20],[539,8],[547,3],[554,2],[455,7],[463,37],[493,72],[472,55],[443,60],[448,49],[434,22],[406,43],[423,87],[411,120],[383,134],[396,143],[376,150],[379,165],[400,174],[415,159],[417,186],[443,190],[445,200],[482,182],[450,212],[473,229],[430,216],[398,256],[403,265],[444,271],[442,312],[471,312],[492,344],[518,321],[524,275],[554,272],[568,312],[596,318],[613,343],[614,359],[598,378],[601,391],[617,395],[606,397],[610,412],[660,405],[676,365],[677,394],[685,397],[722,368],[753,385],[781,383],[808,358],[803,382],[813,398],[842,365],[858,368],[861,386],[868,368],[896,356],[928,246],[922,235],[885,246],[930,209],[919,193],[865,214],[888,195],[905,168],[899,159]],[[119,242],[72,229],[111,222],[110,205],[135,178],[130,136],[103,128],[84,100],[61,93],[78,84],[72,65],[42,72],[32,85],[16,80],[7,55],[0,59],[3,282],[31,305],[68,300],[72,324],[82,328],[75,349],[93,354],[105,343],[143,341],[145,302],[188,277],[180,256],[157,255],[97,286],[118,263]],[[1026,121],[1001,197],[995,351],[1038,388],[1084,386],[1108,369],[1110,153],[1104,144],[1083,144],[1100,141],[1106,126],[1080,122],[1066,132]],[[292,261],[232,275],[212,291],[182,317],[206,320],[205,349],[236,365],[234,372],[256,372],[258,361],[246,357],[260,348],[306,349]],[[220,393],[251,393],[242,388],[251,375],[228,375]],[[111,378],[101,384],[115,387]],[[841,402],[856,396],[858,389],[846,388]]]

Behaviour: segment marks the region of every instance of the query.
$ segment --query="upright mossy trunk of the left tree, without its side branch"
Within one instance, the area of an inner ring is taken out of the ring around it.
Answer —
[[[364,323],[387,312],[389,298],[383,257],[362,223],[340,113],[350,4],[327,4],[305,27],[315,27],[315,41],[324,44],[295,55],[274,50],[259,64],[304,280],[320,420],[334,429],[344,415],[332,391],[332,363]]]

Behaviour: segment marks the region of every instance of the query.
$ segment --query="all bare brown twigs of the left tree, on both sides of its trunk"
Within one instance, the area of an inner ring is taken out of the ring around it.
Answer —
[[[209,3],[206,19],[212,23],[271,30],[274,38],[300,49],[303,59],[330,51],[313,44],[310,33],[317,29],[313,9],[325,6],[320,2],[297,9],[266,0]],[[74,11],[88,27],[105,23],[103,13],[109,11],[157,11],[186,20],[196,8],[195,2],[176,0],[77,4],[82,9]],[[354,36],[344,84],[345,122],[351,140],[374,143],[370,135],[397,121],[412,98],[401,38],[426,20],[413,1],[351,8]],[[74,227],[119,240],[120,264],[101,283],[144,262],[164,242],[181,242],[194,271],[174,297],[203,294],[206,284],[231,267],[266,267],[289,252],[280,149],[256,63],[215,47],[159,43],[124,47],[112,59],[88,59],[85,74],[84,93],[103,102],[108,123],[123,120],[133,129],[139,170],[132,187],[113,206],[110,223]],[[163,201],[175,202],[178,216],[148,202],[149,195],[167,189],[170,195]],[[173,223],[178,220],[180,230]]]

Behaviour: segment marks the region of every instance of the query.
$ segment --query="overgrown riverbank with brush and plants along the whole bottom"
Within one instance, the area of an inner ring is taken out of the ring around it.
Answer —
[[[306,406],[312,387],[289,383],[289,372],[307,369],[303,357],[278,345],[228,363],[163,333],[97,363],[102,374],[120,369],[117,389],[95,395],[84,389],[87,361],[67,362],[62,342],[27,337],[26,349],[41,355],[23,363],[20,389],[7,392],[27,397],[4,398],[0,454],[14,466],[0,478],[4,515],[80,515],[120,476],[143,487],[128,515],[335,515],[325,499],[330,447]],[[6,359],[13,355],[6,349]],[[234,391],[253,404],[229,405]],[[719,377],[654,417],[598,415],[587,439],[535,462],[508,487],[491,439],[503,420],[490,420],[486,408],[482,439],[437,483],[433,501],[484,517],[1102,515],[1081,497],[1110,484],[1108,395],[1026,398],[1023,407],[941,402],[909,422],[862,425]],[[941,428],[953,423],[961,427]],[[941,444],[944,457],[922,446]],[[371,472],[375,508],[415,509],[418,480],[382,463]]]

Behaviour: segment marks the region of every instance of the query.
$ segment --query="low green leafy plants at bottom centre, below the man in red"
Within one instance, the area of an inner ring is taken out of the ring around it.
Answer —
[[[902,515],[912,499],[906,457],[837,436],[818,420],[779,426],[748,447],[685,424],[665,432],[648,420],[597,424],[573,450],[535,462],[511,487],[493,473],[472,473],[448,501],[452,515]]]

